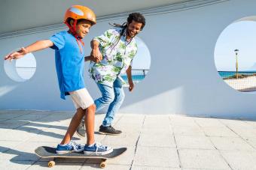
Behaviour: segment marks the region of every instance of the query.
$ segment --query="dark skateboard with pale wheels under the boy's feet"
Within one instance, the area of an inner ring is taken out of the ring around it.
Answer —
[[[56,148],[41,146],[35,149],[35,154],[37,154],[38,157],[42,157],[42,158],[52,157],[53,160],[50,160],[48,162],[48,167],[50,168],[55,166],[56,158],[83,158],[83,159],[101,159],[101,163],[99,164],[99,167],[104,169],[106,166],[106,161],[108,159],[113,159],[115,157],[118,157],[121,154],[123,154],[126,150],[127,148],[114,148],[110,154],[105,154],[105,155],[84,154],[84,151],[81,151],[79,153],[72,152],[68,154],[56,154]]]

